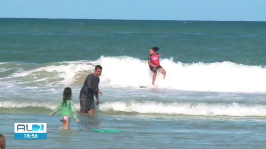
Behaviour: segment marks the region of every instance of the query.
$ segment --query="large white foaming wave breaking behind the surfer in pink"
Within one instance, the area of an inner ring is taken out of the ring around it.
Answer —
[[[40,66],[35,69],[20,69],[1,79],[19,80],[20,83],[47,85],[70,85],[94,71],[96,65],[103,67],[100,85],[112,87],[135,87],[151,85],[153,73],[147,60],[129,56],[104,57],[94,61],[61,62],[57,65]],[[266,69],[232,62],[193,63],[174,62],[161,59],[166,70],[166,79],[158,73],[155,83],[162,88],[187,91],[213,92],[266,92]],[[81,77],[82,78],[79,78]]]

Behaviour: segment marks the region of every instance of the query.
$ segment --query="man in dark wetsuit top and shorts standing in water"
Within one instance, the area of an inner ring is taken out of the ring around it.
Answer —
[[[94,113],[94,95],[96,97],[96,105],[99,104],[99,95],[102,95],[101,90],[99,90],[98,85],[100,82],[99,76],[101,75],[102,67],[97,65],[95,67],[94,73],[87,76],[84,81],[84,85],[80,90],[80,112],[81,113]]]

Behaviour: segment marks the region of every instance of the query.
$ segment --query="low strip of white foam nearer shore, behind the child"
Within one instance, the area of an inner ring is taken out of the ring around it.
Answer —
[[[46,102],[18,102],[0,101],[0,108],[29,108],[43,107],[53,110],[58,103]],[[75,103],[79,111],[79,103]],[[205,103],[205,102],[173,102],[162,103],[155,101],[112,101],[100,104],[100,111],[133,112],[142,114],[192,115],[192,116],[266,116],[266,105],[246,105],[233,103]]]

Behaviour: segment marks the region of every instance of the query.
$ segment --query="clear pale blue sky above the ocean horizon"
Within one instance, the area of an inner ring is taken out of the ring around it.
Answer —
[[[0,18],[266,21],[266,0],[0,0]]]

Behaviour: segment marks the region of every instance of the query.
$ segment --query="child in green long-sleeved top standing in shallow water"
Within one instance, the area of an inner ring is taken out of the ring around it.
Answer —
[[[61,100],[60,104],[51,114],[49,114],[49,117],[51,117],[61,109],[60,121],[64,123],[65,129],[69,129],[71,113],[73,114],[73,117],[76,120],[76,122],[77,123],[79,122],[77,118],[77,112],[75,110],[71,97],[72,97],[71,88],[66,87],[63,93],[63,99]]]

